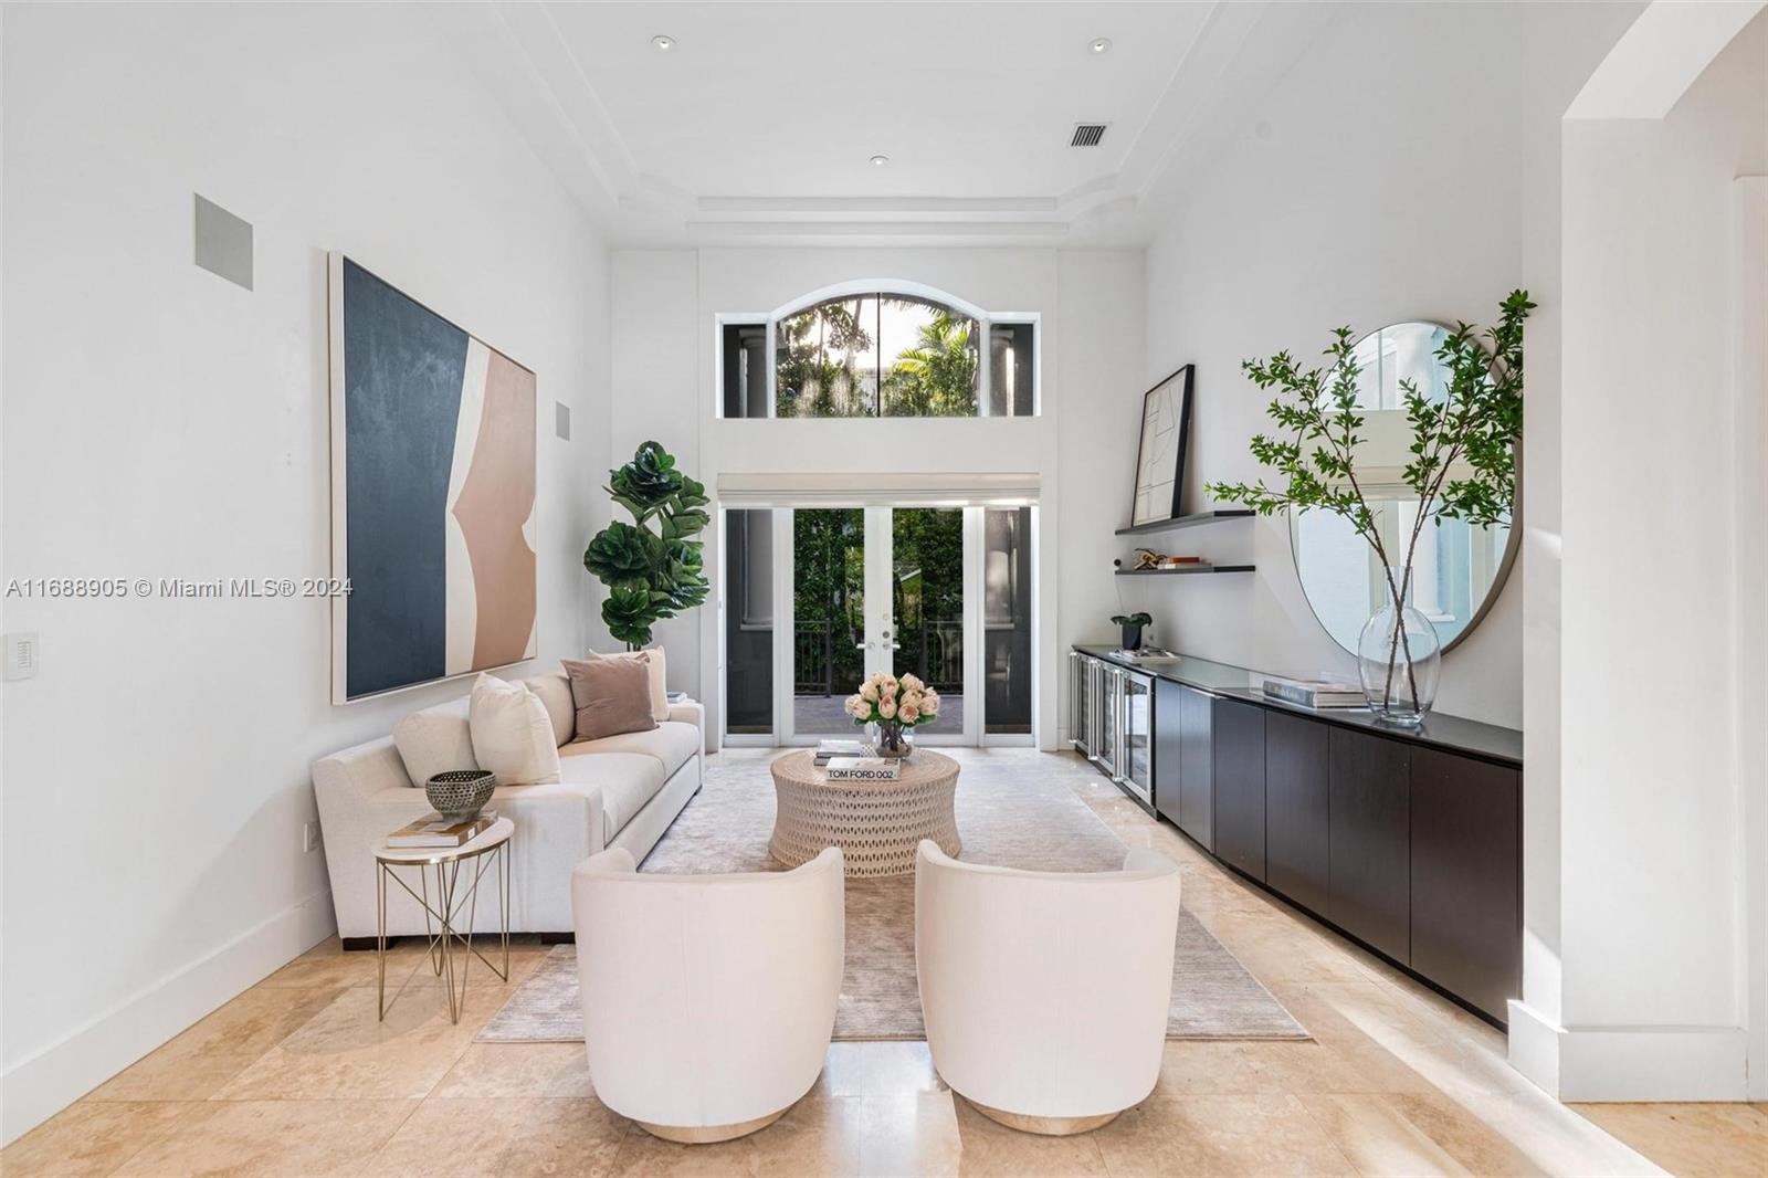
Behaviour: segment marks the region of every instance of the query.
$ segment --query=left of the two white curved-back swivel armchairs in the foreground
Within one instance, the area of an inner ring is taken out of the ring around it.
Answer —
[[[656,876],[624,849],[571,877],[596,1095],[668,1141],[766,1128],[810,1091],[845,960],[842,853],[790,872]]]

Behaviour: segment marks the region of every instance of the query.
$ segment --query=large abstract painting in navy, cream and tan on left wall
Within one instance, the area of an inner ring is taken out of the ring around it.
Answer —
[[[534,373],[331,255],[332,702],[534,658]]]

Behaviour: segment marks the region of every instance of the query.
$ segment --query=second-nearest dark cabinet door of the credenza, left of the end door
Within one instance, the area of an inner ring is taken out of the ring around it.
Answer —
[[[1400,741],[1333,729],[1326,738],[1326,916],[1402,966],[1411,960],[1411,764]]]

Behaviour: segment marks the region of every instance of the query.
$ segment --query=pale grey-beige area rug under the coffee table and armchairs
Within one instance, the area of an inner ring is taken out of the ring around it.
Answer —
[[[1066,757],[965,753],[956,814],[962,858],[1034,870],[1096,872],[1126,847],[1066,784]],[[767,856],[774,792],[766,759],[716,757],[700,794],[642,870],[780,870]],[[1101,994],[1100,1001],[1109,1001]],[[580,1042],[576,950],[560,945],[479,1031],[481,1042]],[[914,876],[847,881],[847,976],[834,1038],[926,1038],[914,976]],[[1308,1038],[1308,1033],[1190,911],[1179,913],[1167,1038]]]

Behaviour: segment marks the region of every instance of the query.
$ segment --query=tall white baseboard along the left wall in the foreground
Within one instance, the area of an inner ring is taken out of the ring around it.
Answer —
[[[50,1120],[334,929],[331,891],[316,891],[19,1059],[0,1075],[0,1144]]]

